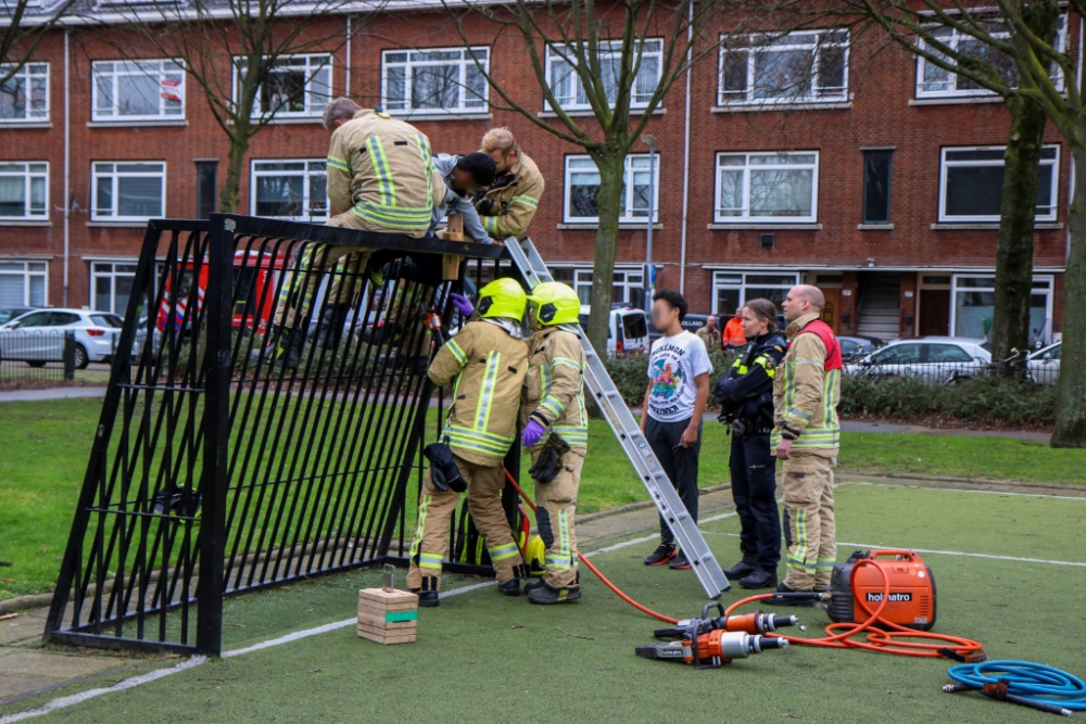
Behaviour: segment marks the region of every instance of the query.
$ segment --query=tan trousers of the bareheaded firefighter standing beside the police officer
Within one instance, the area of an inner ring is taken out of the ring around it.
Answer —
[[[828,588],[837,558],[833,517],[833,468],[837,458],[792,453],[784,460],[784,506],[788,515],[787,575],[794,590]]]

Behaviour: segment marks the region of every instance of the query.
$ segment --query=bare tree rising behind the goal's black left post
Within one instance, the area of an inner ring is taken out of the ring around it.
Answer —
[[[319,113],[330,99],[332,56],[344,45],[346,30],[341,26],[334,34],[321,33],[318,23],[341,14],[348,1],[157,3],[132,11],[119,26],[97,30],[128,56],[131,43],[124,40],[125,34],[138,34],[156,52],[185,66],[229,143],[218,209],[232,213],[253,136],[285,113]],[[314,64],[290,59],[303,53],[327,54],[328,60]]]

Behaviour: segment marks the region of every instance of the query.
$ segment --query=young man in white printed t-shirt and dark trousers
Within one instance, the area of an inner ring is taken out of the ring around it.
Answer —
[[[641,432],[679,492],[691,519],[697,522],[697,458],[702,449],[702,415],[709,399],[712,364],[699,336],[686,332],[686,300],[679,292],[660,290],[653,295],[653,323],[664,336],[648,354],[648,390],[641,411]],[[668,563],[690,568],[660,517],[660,545],[646,566]]]

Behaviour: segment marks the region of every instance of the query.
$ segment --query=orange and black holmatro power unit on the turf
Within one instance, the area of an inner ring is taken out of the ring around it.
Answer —
[[[929,631],[935,625],[935,579],[932,569],[912,550],[857,550],[833,567],[830,581],[830,619],[836,623],[863,623],[882,604],[886,582],[874,566],[856,567],[872,559],[889,579],[889,601],[881,618],[900,626]],[[862,601],[862,605],[861,605]],[[877,624],[876,624],[877,625]]]

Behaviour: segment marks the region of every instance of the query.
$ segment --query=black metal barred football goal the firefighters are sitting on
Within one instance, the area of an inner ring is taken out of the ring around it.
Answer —
[[[380,255],[387,278],[336,263],[338,246]],[[457,282],[433,269],[459,255],[479,283],[502,253],[233,214],[150,221],[45,639],[217,656],[225,596],[405,562],[435,392],[427,321],[454,320]],[[296,367],[273,359],[289,339]]]

